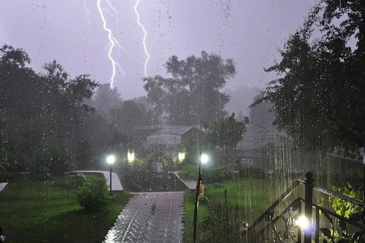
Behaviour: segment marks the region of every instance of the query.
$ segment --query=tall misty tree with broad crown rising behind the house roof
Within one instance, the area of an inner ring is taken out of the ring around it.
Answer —
[[[173,124],[213,123],[224,117],[228,95],[220,92],[235,74],[232,59],[202,51],[200,57],[179,60],[172,56],[166,62],[170,77],[147,77],[143,86],[159,114],[167,114]]]

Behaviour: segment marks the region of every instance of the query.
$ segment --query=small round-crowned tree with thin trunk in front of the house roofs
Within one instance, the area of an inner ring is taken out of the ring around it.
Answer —
[[[232,113],[230,117],[219,119],[209,127],[208,138],[212,144],[226,149],[226,161],[229,163],[233,162],[236,145],[242,140],[245,131],[245,122],[237,121]]]

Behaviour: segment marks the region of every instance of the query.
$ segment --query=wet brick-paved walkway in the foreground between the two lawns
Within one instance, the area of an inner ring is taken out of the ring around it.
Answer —
[[[134,194],[105,236],[104,243],[180,243],[184,192]]]

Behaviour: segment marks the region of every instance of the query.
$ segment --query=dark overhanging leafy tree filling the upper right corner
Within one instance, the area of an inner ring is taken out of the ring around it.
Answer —
[[[274,124],[299,145],[324,150],[342,146],[348,151],[363,145],[364,13],[362,0],[321,1],[289,37],[281,61],[266,69],[278,78],[254,105],[273,102]]]

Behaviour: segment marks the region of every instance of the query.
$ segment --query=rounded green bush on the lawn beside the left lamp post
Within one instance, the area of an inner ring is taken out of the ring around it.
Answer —
[[[77,192],[78,203],[88,213],[102,211],[109,200],[107,183],[100,177],[90,177]]]

